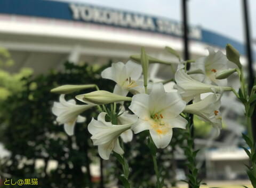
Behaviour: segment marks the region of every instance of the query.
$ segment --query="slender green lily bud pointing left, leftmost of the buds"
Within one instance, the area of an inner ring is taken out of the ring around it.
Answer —
[[[94,88],[95,84],[86,84],[86,85],[63,85],[51,90],[52,93],[59,94],[68,94],[75,91],[79,91],[81,89],[89,89]]]

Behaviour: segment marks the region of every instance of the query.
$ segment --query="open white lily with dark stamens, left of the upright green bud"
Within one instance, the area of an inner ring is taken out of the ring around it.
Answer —
[[[129,90],[134,91],[136,90],[136,87],[143,84],[141,82],[137,82],[141,76],[141,73],[141,65],[128,61],[126,64],[122,62],[113,63],[111,67],[108,67],[102,71],[101,76],[102,78],[110,79],[116,82],[113,93],[126,96]]]

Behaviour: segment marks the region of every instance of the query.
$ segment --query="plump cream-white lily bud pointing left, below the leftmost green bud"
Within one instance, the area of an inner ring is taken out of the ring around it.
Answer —
[[[104,105],[113,102],[121,102],[121,101],[131,101],[131,97],[125,97],[121,95],[117,95],[105,90],[93,91],[90,93],[77,95],[77,100],[85,102],[87,104],[97,104]]]

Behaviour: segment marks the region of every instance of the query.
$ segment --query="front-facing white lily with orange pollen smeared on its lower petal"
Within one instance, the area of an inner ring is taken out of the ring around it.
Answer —
[[[139,116],[132,130],[135,134],[149,130],[156,147],[165,148],[172,139],[172,128],[186,128],[187,120],[179,115],[185,106],[177,92],[166,93],[162,83],[153,84],[150,95],[132,97],[129,108]]]

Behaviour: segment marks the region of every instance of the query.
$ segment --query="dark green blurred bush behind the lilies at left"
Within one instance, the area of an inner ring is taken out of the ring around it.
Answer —
[[[100,73],[106,66],[97,68],[87,64],[83,66],[65,63],[63,72],[52,71],[46,75],[29,76],[23,79],[22,91],[7,98],[1,105],[0,141],[5,149],[11,152],[9,157],[0,161],[0,175],[13,180],[38,178],[38,187],[103,187],[99,182],[91,183],[91,176],[83,168],[89,168],[91,163],[99,161],[97,147],[92,146],[87,124],[92,117],[97,117],[97,108],[86,110],[86,122],[77,124],[75,135],[67,136],[62,125],[57,125],[51,112],[53,101],[59,100],[59,95],[50,93],[54,87],[63,84],[95,83],[102,90],[112,91],[114,82],[101,79]],[[75,95],[91,92],[87,89],[79,93],[71,93],[66,99]],[[78,102],[79,103],[79,102]],[[162,177],[173,177],[167,182],[175,184],[176,161],[173,158],[175,145],[182,143],[182,130],[174,130],[169,149],[157,152]],[[125,144],[125,157],[131,168],[130,180],[132,187],[155,187],[154,167],[147,147],[147,133],[134,135],[132,143]],[[131,152],[132,151],[132,152]],[[45,166],[35,168],[37,159],[42,159]],[[50,160],[58,161],[57,168],[46,173]],[[21,165],[21,162],[23,164]],[[163,165],[161,165],[163,164]],[[122,174],[121,167],[115,157],[103,161],[104,184],[118,182],[116,174]],[[10,185],[11,186],[11,185]],[[18,186],[18,185],[17,185]],[[11,186],[14,187],[14,186]],[[107,186],[106,186],[107,187]],[[121,185],[119,186],[121,187]]]

